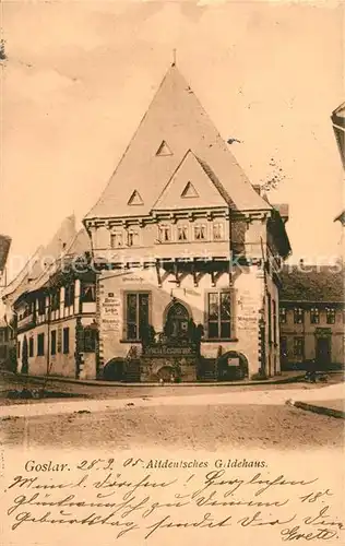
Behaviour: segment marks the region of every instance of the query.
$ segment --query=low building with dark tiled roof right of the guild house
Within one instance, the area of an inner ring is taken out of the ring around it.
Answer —
[[[282,367],[344,364],[344,270],[289,266],[279,294]]]

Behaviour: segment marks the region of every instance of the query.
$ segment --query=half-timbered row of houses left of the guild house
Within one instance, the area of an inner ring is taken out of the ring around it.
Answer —
[[[17,371],[94,378],[95,273],[90,238],[67,218],[4,293],[16,317]]]

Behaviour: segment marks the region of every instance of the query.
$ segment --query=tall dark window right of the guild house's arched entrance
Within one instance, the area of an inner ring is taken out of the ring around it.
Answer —
[[[207,294],[207,330],[209,339],[229,339],[230,328],[230,292],[211,292]]]

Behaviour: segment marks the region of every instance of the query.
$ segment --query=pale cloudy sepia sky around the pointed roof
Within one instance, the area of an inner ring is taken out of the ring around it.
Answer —
[[[29,257],[105,188],[177,64],[252,183],[282,168],[293,259],[340,253],[344,174],[330,116],[344,99],[335,2],[1,3],[0,233]],[[273,162],[272,162],[273,159]],[[119,189],[121,191],[121,189]],[[13,270],[13,268],[12,268]],[[13,276],[15,271],[10,271]]]

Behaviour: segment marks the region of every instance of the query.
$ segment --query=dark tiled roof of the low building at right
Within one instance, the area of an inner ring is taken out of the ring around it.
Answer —
[[[281,280],[281,302],[344,302],[344,270],[341,266],[287,265]]]

